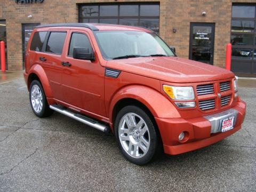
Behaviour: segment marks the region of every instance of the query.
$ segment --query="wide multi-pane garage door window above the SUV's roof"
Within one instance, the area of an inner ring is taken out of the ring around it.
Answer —
[[[159,3],[82,4],[79,22],[141,26],[159,34]]]

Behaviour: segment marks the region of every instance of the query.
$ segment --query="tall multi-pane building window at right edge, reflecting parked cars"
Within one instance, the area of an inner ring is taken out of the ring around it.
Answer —
[[[232,70],[256,74],[256,5],[233,4],[230,43]]]

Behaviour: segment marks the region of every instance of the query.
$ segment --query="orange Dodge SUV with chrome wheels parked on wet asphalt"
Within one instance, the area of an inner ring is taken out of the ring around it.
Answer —
[[[228,70],[182,59],[153,31],[98,23],[42,25],[26,52],[38,117],[53,111],[113,132],[132,163],[176,155],[241,129],[246,104]]]

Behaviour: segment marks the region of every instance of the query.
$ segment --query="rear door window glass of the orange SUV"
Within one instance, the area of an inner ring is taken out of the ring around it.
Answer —
[[[46,45],[46,52],[61,54],[66,34],[66,32],[51,32]]]

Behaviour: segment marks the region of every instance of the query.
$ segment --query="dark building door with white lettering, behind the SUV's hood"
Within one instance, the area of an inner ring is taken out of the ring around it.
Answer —
[[[190,23],[189,59],[213,65],[215,23]]]

